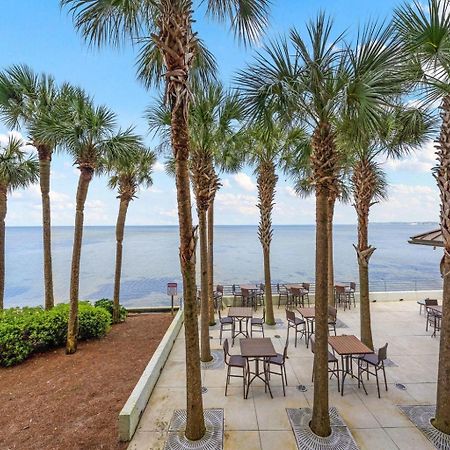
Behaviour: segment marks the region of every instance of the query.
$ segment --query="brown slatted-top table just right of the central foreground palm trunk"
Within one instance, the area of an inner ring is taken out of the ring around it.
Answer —
[[[361,383],[364,388],[364,392],[367,394],[362,377],[359,378],[353,374],[352,358],[355,355],[368,355],[373,353],[373,351],[354,335],[329,336],[328,343],[341,357],[341,395],[344,395],[344,380],[347,375],[356,378],[358,380],[358,386],[359,383]]]

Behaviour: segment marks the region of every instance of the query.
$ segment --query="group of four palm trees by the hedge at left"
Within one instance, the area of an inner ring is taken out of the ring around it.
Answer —
[[[2,222],[0,229],[0,306],[4,293],[4,242],[6,195],[38,179],[42,194],[45,308],[54,306],[51,256],[50,164],[55,150],[69,154],[79,169],[76,194],[75,232],[70,277],[70,315],[67,353],[74,353],[78,334],[78,293],[84,207],[95,174],[109,176],[109,186],[120,200],[116,227],[114,322],[119,321],[122,241],[127,208],[139,186],[152,184],[155,154],[131,128],[117,129],[116,115],[96,106],[82,89],[57,86],[52,77],[36,75],[27,66],[13,66],[0,73],[0,117],[10,127],[26,130],[27,144],[38,158],[26,156],[25,142],[11,135],[0,154]]]

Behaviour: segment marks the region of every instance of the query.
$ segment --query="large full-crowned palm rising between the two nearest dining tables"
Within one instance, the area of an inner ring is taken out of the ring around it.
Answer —
[[[276,41],[240,72],[238,83],[248,102],[248,113],[264,117],[282,111],[304,121],[311,133],[311,172],[316,195],[316,350],[314,404],[311,429],[330,433],[328,413],[328,199],[339,192],[336,174],[344,158],[337,145],[338,123],[351,114],[359,124],[374,127],[378,116],[401,93],[398,51],[390,30],[369,24],[358,35],[356,54],[343,46],[342,35],[332,39],[332,21],[324,14],[307,25],[308,39],[290,33],[290,44]],[[344,47],[342,49],[342,46]],[[380,72],[375,68],[384,67]],[[356,75],[355,75],[356,74]]]

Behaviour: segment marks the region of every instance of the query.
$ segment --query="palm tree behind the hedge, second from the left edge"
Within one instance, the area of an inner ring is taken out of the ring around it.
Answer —
[[[27,128],[28,140],[39,157],[39,181],[42,197],[42,233],[44,247],[45,309],[54,306],[51,251],[50,165],[53,140],[37,139],[32,129],[43,116],[52,114],[58,101],[58,89],[52,77],[36,75],[27,66],[12,66],[0,74],[0,115],[9,128]]]

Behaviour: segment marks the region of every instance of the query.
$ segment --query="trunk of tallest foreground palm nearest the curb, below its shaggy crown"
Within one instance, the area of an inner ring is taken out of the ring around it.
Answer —
[[[186,345],[186,437],[198,440],[205,434],[201,392],[200,352],[195,284],[196,232],[192,227],[189,185],[189,137],[187,118],[181,107],[172,113],[172,146],[176,161],[180,264],[183,275],[184,325]]]

